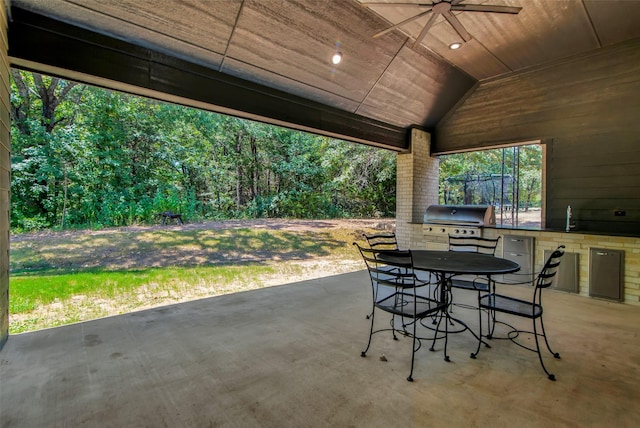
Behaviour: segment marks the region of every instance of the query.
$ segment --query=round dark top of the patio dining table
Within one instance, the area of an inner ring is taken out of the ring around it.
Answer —
[[[457,251],[411,250],[413,267],[448,274],[496,275],[513,273],[520,265],[488,254]]]

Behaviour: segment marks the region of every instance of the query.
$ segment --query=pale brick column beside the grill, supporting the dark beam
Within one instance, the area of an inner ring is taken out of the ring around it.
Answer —
[[[396,235],[400,248],[426,248],[422,217],[438,203],[437,158],[430,156],[431,135],[411,130],[409,153],[398,154],[396,177]]]

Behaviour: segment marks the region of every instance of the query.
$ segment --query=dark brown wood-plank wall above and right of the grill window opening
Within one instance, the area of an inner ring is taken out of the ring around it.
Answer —
[[[434,133],[434,152],[549,138],[547,222],[638,233],[640,40],[481,82]],[[613,216],[614,209],[626,216]],[[581,217],[581,212],[584,217]]]

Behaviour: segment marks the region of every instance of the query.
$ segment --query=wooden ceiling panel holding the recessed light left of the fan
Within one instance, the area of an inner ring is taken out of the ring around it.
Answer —
[[[378,20],[354,1],[247,1],[227,56],[361,102],[404,38],[373,40]],[[344,21],[345,16],[350,17]],[[376,49],[371,49],[375,45]],[[335,50],[343,61],[334,66]]]

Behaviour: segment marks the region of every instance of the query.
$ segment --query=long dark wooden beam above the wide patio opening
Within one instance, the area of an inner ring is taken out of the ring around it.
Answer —
[[[156,94],[158,99],[179,99],[182,104],[219,113],[395,151],[409,149],[407,129],[17,7],[12,8],[9,23],[9,57],[13,66],[40,72],[54,69],[62,78],[82,81],[82,76],[98,77],[101,86],[112,89],[121,90],[113,84],[120,82],[146,90],[130,92]],[[96,80],[86,79],[83,83],[96,84]]]

